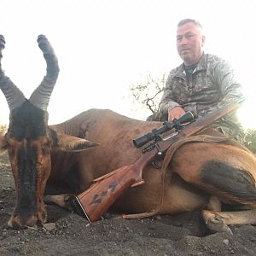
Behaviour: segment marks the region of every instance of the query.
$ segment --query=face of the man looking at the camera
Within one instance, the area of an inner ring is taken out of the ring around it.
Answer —
[[[177,53],[185,65],[192,65],[200,60],[204,43],[205,37],[194,23],[189,22],[177,27]]]

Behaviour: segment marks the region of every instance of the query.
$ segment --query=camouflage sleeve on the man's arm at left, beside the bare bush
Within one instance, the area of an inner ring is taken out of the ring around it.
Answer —
[[[173,80],[172,80],[172,71],[171,71],[171,73],[169,74],[166,80],[164,94],[159,104],[159,112],[161,113],[168,113],[169,109],[179,106],[179,104],[174,100],[175,97],[173,95],[172,86],[173,86]]]

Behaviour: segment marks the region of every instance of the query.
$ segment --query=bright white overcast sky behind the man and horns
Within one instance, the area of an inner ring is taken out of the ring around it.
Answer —
[[[0,0],[0,6],[3,70],[27,98],[45,74],[39,34],[58,56],[61,72],[49,101],[49,124],[90,108],[146,119],[150,112],[132,103],[130,86],[180,65],[177,23],[192,18],[204,27],[205,52],[235,68],[247,94],[241,121],[256,129],[256,0]],[[0,109],[0,123],[6,124],[3,94]]]

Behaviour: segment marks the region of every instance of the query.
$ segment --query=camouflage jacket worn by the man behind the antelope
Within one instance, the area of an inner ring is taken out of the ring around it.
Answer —
[[[240,96],[243,96],[241,84],[237,82],[230,65],[218,56],[203,54],[190,78],[183,64],[171,71],[159,113],[166,115],[168,109],[181,106],[185,111],[192,110],[201,117],[226,100]],[[219,121],[219,126],[229,136],[233,130],[241,130],[236,114]]]

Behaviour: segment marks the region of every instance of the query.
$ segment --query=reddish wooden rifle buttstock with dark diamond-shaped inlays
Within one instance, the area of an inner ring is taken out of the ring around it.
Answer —
[[[135,164],[123,166],[96,178],[89,189],[72,199],[74,210],[90,222],[101,218],[126,189],[144,183],[143,168],[148,162],[154,160],[154,156],[154,152],[148,152],[143,154]]]

